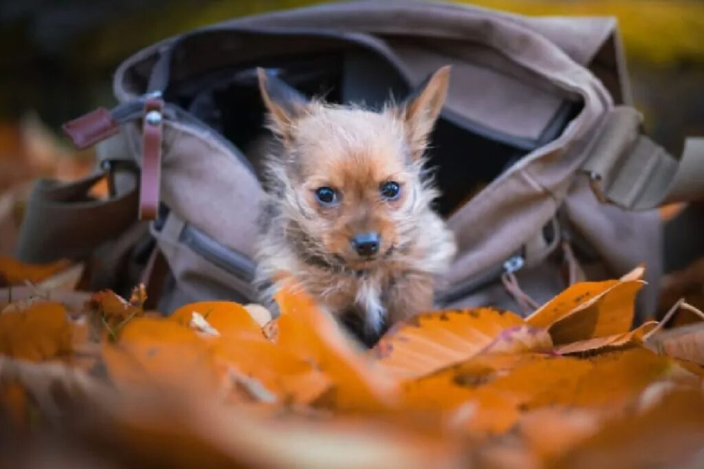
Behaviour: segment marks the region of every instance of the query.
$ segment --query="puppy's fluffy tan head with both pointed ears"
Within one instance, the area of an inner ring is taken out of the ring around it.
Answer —
[[[422,158],[450,76],[441,68],[405,103],[381,112],[306,101],[259,70],[270,129],[282,151],[270,166],[304,256],[360,270],[408,253],[436,196]]]

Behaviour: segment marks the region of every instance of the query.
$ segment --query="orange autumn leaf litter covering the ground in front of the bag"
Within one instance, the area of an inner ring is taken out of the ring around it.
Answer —
[[[66,268],[0,263],[33,282],[0,289],[8,467],[704,465],[704,327],[632,329],[643,268],[527,318],[418,315],[371,350],[293,287],[278,318],[225,301],[164,317],[139,287],[34,286]]]

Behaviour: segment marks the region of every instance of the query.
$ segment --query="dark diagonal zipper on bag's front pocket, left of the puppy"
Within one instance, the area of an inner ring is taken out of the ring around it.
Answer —
[[[192,225],[185,225],[179,235],[179,241],[206,261],[217,265],[225,272],[246,282],[254,280],[255,264],[244,254],[223,246],[215,239]]]

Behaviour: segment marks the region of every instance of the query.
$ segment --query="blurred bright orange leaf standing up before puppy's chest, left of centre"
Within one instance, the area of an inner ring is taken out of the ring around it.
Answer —
[[[310,297],[289,285],[275,299],[281,311],[277,344],[315,363],[332,381],[317,405],[339,410],[382,410],[395,405],[396,383],[382,375]]]

